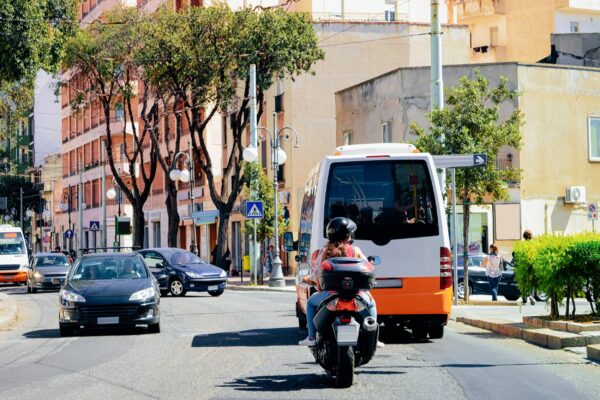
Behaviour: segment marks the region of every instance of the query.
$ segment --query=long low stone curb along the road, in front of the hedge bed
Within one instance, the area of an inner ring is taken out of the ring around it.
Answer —
[[[492,331],[501,336],[514,339],[522,339],[526,342],[536,344],[548,349],[562,349],[563,347],[592,346],[593,354],[600,359],[600,335],[585,332],[577,334],[573,332],[556,331],[549,328],[531,326],[529,319],[524,318],[525,323],[508,321],[497,318],[475,319],[469,317],[456,317],[456,322],[475,326],[477,328]],[[597,353],[594,351],[597,350]],[[590,350],[588,350],[589,353]]]

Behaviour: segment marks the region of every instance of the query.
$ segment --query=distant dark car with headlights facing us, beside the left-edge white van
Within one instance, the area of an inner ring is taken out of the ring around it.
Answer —
[[[60,289],[69,273],[69,260],[61,253],[37,253],[27,269],[27,292]]]

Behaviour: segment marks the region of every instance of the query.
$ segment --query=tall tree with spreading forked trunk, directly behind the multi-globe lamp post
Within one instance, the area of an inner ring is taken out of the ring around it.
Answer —
[[[219,210],[217,264],[222,265],[229,218],[245,181],[242,151],[249,124],[249,67],[256,65],[260,118],[264,91],[274,78],[309,72],[323,58],[323,52],[310,20],[303,14],[270,9],[233,12],[227,5],[216,3],[185,8],[173,19],[181,36],[177,41],[163,42],[168,54],[158,53],[161,61],[173,62],[154,66],[151,73],[157,80],[170,79],[170,90],[178,88],[181,111],[192,132],[194,158]],[[208,151],[207,126],[215,115],[229,115],[233,121],[223,169],[213,166]]]

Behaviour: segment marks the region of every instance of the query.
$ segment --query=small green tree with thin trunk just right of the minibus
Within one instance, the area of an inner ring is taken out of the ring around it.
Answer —
[[[431,154],[485,154],[487,165],[481,168],[460,168],[456,171],[456,195],[463,208],[464,265],[468,261],[468,233],[471,204],[482,204],[486,195],[493,201],[508,198],[507,183],[516,182],[520,170],[498,169],[496,157],[502,146],[520,148],[520,127],[523,114],[514,101],[518,92],[507,86],[501,78],[498,86],[490,82],[478,70],[474,78],[463,77],[460,85],[446,90],[447,107],[435,109],[427,115],[429,132],[417,124],[411,131],[418,138],[416,145]],[[513,103],[508,118],[500,119],[500,107],[505,102]],[[465,300],[468,300],[469,271],[465,268]]]

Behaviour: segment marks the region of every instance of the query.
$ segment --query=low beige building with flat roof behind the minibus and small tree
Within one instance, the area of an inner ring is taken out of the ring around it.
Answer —
[[[494,63],[444,67],[444,85],[455,86],[474,68],[492,84],[507,77],[521,95],[505,106],[525,114],[520,150],[504,148],[499,168],[523,170],[507,202],[473,208],[469,246],[486,250],[493,241],[510,254],[524,229],[534,235],[592,230],[586,207],[600,202],[600,69],[544,64]],[[428,126],[428,68],[400,68],[336,93],[337,144],[353,132],[354,143],[410,142],[409,124]],[[569,197],[579,202],[569,202]],[[597,223],[596,223],[597,225]],[[459,227],[459,229],[462,229]]]

